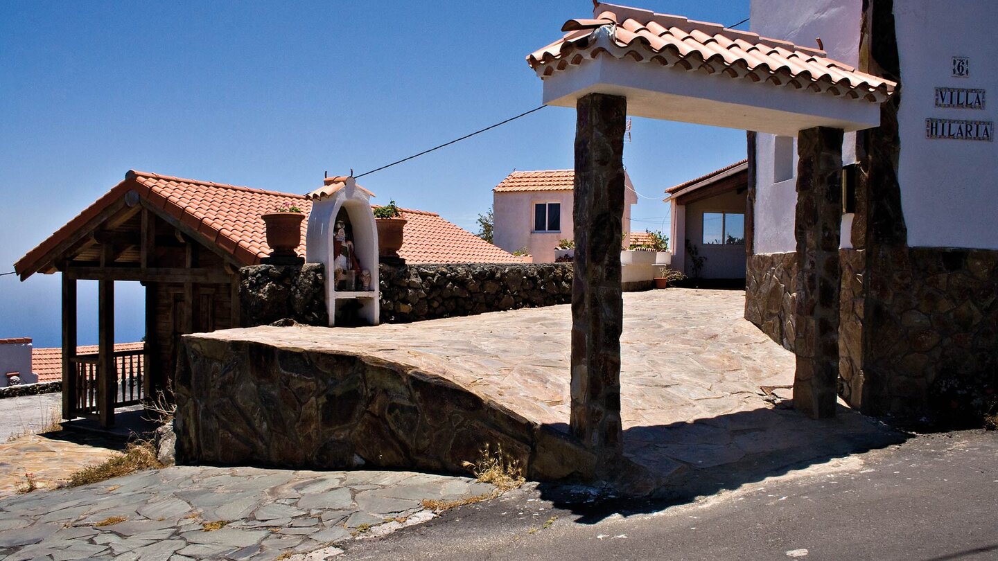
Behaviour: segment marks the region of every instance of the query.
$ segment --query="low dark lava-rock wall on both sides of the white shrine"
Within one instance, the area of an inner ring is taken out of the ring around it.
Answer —
[[[322,266],[240,270],[243,325],[290,318],[328,325]],[[473,315],[572,301],[572,264],[381,266],[381,322]]]

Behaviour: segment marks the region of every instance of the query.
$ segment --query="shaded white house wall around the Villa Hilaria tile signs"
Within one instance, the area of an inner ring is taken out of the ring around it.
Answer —
[[[969,17],[971,16],[972,17]],[[998,249],[998,143],[930,140],[927,118],[996,121],[998,2],[894,2],[901,63],[898,182],[911,247]],[[970,76],[952,76],[952,58],[970,58]],[[983,110],[937,108],[935,88],[986,92]]]

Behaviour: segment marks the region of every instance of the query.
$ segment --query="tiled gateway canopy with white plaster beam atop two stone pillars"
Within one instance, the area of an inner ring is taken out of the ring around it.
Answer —
[[[876,127],[896,86],[820,49],[627,6],[596,2],[562,31],[527,57],[546,105],[600,93],[639,117],[796,136]]]

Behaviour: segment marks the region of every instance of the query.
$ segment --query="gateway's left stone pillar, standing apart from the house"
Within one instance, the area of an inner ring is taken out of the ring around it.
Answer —
[[[627,99],[589,94],[576,106],[572,433],[596,455],[597,475],[621,458],[621,234]]]

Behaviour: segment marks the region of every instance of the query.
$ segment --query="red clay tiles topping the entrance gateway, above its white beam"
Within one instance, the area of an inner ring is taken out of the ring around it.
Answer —
[[[604,29],[609,42],[600,40]],[[542,76],[609,55],[876,103],[896,86],[831,60],[818,49],[627,6],[597,3],[593,19],[569,20],[562,31],[568,33],[527,57]]]

